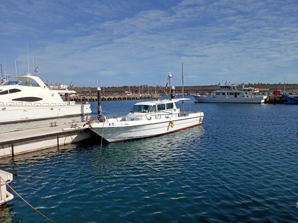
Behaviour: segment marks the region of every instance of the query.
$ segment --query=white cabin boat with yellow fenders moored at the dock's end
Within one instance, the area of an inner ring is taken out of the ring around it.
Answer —
[[[185,100],[190,99],[139,102],[126,116],[103,117],[87,124],[90,130],[108,142],[158,136],[201,125],[203,112],[185,113],[176,107],[177,102]]]

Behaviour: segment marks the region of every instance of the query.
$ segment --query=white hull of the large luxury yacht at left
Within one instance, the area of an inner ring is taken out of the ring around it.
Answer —
[[[90,114],[90,104],[0,106],[0,124]]]

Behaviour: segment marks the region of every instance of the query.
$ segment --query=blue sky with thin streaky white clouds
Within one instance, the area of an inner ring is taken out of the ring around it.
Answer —
[[[76,86],[298,83],[297,0],[5,0],[0,63]],[[161,79],[161,81],[159,81]]]

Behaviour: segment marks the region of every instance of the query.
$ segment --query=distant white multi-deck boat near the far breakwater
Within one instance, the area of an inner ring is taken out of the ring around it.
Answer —
[[[214,91],[209,95],[193,95],[196,102],[209,103],[256,103],[261,104],[265,102],[267,96],[257,95],[259,91],[254,88],[237,89],[237,85],[230,84],[230,81],[225,81],[224,84],[219,85],[220,89]]]

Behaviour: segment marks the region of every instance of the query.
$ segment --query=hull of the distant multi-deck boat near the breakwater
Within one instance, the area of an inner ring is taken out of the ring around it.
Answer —
[[[248,104],[262,104],[265,103],[267,96],[252,97],[252,98],[223,98],[223,97],[206,97],[193,95],[196,102],[202,103],[248,103]]]

